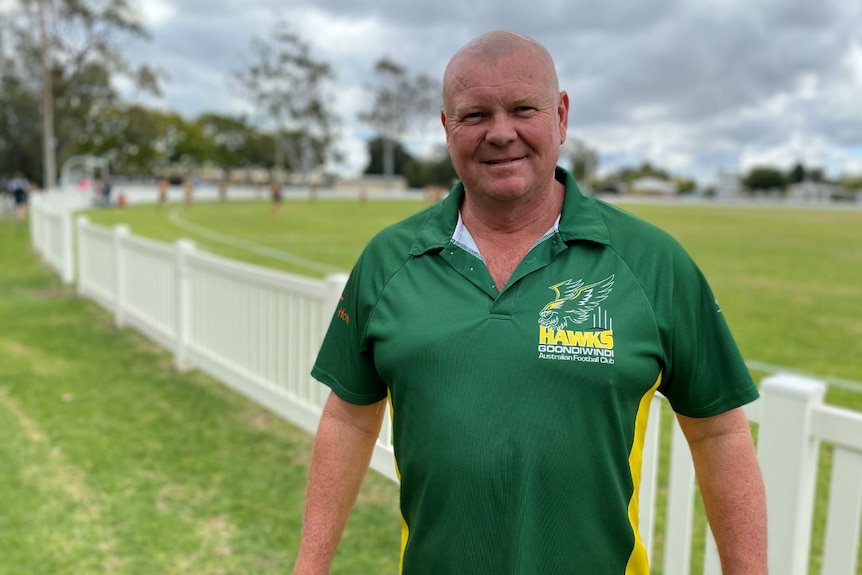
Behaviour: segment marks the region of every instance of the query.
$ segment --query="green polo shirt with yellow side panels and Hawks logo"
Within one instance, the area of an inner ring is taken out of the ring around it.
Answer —
[[[558,226],[499,292],[459,229],[460,184],[381,231],[313,368],[348,402],[389,397],[406,575],[646,575],[653,394],[690,417],[757,397],[680,245],[557,178]]]

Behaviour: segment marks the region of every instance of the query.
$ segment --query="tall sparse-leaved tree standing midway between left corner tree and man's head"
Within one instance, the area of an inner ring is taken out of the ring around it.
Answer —
[[[307,179],[322,165],[335,137],[336,117],[325,88],[334,74],[316,60],[308,44],[286,24],[277,24],[268,40],[254,38],[253,62],[236,73],[236,88],[259,110],[273,130],[274,161]]]

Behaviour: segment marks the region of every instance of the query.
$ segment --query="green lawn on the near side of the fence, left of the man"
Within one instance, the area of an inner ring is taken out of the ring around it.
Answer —
[[[0,220],[0,573],[289,573],[312,439],[75,297]],[[333,573],[397,570],[371,474]]]

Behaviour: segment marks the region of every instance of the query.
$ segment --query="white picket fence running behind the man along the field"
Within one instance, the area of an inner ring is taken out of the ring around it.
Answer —
[[[86,217],[73,226],[76,207],[43,198],[31,210],[33,245],[63,281],[77,278],[81,296],[109,310],[117,326],[133,327],[171,350],[178,369],[201,369],[315,432],[328,389],[309,372],[346,276],[317,280],[276,272],[204,253],[187,241],[170,245],[135,237],[124,226],[96,226]],[[862,574],[862,413],[825,404],[826,386],[809,378],[775,374],[760,389],[746,413],[757,423],[770,572]],[[688,575],[698,540],[694,471],[678,426],[662,449],[660,419],[669,416],[663,403],[657,397],[651,406],[640,525],[651,555],[661,550],[654,571]],[[821,471],[823,446],[830,463]],[[371,465],[396,480],[388,425]],[[661,489],[665,469],[669,479]],[[817,510],[820,473],[829,478],[828,504]],[[815,526],[825,537],[822,555],[812,560]],[[711,536],[701,539],[702,572],[721,573]]]

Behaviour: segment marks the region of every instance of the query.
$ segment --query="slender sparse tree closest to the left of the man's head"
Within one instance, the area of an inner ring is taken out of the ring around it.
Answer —
[[[407,71],[388,58],[374,66],[375,84],[371,110],[359,119],[371,126],[383,142],[382,171],[387,178],[400,173],[395,166],[395,146],[418,118],[432,117],[439,109],[439,82],[424,74],[410,77]]]

